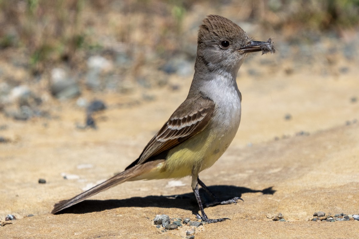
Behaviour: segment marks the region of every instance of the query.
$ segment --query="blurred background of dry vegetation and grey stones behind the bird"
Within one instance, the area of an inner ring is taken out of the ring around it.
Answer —
[[[58,118],[66,105],[84,109],[83,127],[94,127],[90,113],[109,104],[134,107],[156,100],[157,89],[187,92],[198,26],[208,14],[258,40],[274,39],[278,52],[251,57],[238,78],[305,72],[338,80],[358,66],[358,0],[2,0],[0,119]],[[280,87],[267,89],[273,86]],[[115,100],[129,95],[136,97]],[[345,97],[354,104],[358,96]]]

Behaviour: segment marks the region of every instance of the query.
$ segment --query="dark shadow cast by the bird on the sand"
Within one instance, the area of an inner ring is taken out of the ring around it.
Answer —
[[[246,187],[215,185],[208,187],[211,192],[219,197],[220,200],[228,200],[233,197],[241,197],[243,193],[261,192],[263,194],[273,195],[276,190],[273,187],[268,187],[263,190],[253,190]],[[206,202],[213,200],[202,188],[200,188],[200,195]],[[66,208],[56,214],[74,213],[83,214],[88,212],[98,212],[118,207],[176,207],[179,209],[191,210],[193,213],[198,213],[198,204],[194,193],[184,193],[181,195],[170,196],[146,196],[146,197],[131,197],[129,199],[110,199],[110,200],[85,200],[78,204]]]

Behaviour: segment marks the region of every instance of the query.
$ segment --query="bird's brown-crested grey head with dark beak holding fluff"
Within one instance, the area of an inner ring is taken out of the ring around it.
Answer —
[[[197,59],[211,71],[237,73],[248,53],[275,51],[270,39],[255,41],[236,23],[218,15],[209,15],[202,21],[197,42]]]

